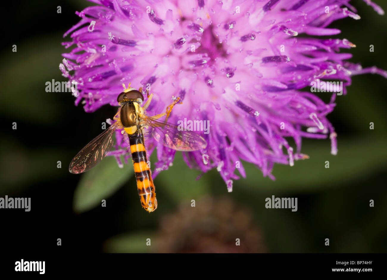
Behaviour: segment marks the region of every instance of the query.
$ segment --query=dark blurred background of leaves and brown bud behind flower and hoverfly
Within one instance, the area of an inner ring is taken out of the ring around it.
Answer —
[[[376,2],[387,10],[384,1]],[[351,62],[387,69],[387,17],[363,1],[351,4],[361,19],[334,22],[330,27],[342,33],[330,38],[356,45],[348,50]],[[296,161],[294,167],[275,165],[276,181],[243,163],[247,178],[235,181],[228,193],[216,170],[196,181],[200,172],[189,169],[177,153],[174,165],[155,179],[159,206],[149,214],[140,206],[131,165],[119,169],[109,157],[94,171],[68,172],[70,160],[116,109],[104,106],[85,113],[74,106],[71,93],[45,91],[51,79],[67,81],[58,65],[66,52],[60,43],[70,38],[62,35],[79,21],[75,11],[94,4],[41,0],[6,5],[0,53],[0,197],[31,198],[31,211],[0,209],[4,251],[387,252],[384,77],[354,76],[348,94],[337,96],[329,115],[338,134],[337,156],[330,155],[329,139],[304,139],[302,152],[310,159]],[[319,94],[327,101],[325,93]],[[370,122],[375,129],[370,130]],[[324,167],[327,160],[329,169]],[[155,153],[151,161],[156,161]],[[297,197],[298,211],[266,209],[265,198],[272,195]],[[102,199],[106,207],[101,207]],[[375,207],[369,206],[370,199]],[[62,246],[57,246],[58,238]],[[151,246],[146,246],[147,238]],[[236,238],[241,240],[237,248]],[[324,245],[325,238],[330,246]]]

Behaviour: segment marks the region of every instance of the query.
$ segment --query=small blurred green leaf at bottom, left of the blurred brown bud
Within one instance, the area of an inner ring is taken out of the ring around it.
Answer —
[[[146,243],[148,238],[152,242],[153,236],[151,232],[113,236],[105,241],[104,251],[106,253],[151,253],[151,246],[147,246]]]

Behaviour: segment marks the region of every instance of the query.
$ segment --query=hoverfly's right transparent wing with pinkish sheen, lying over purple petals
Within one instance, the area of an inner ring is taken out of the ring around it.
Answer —
[[[147,125],[152,127],[152,136],[164,146],[176,151],[196,151],[204,149],[207,142],[192,131],[179,131],[177,125],[165,123],[152,117],[144,117]]]

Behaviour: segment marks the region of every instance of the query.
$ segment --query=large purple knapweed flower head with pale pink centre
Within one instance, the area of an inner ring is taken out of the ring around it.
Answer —
[[[383,10],[364,0],[378,14]],[[339,34],[327,28],[337,19],[360,19],[349,0],[92,0],[99,5],[77,12],[80,22],[64,36],[66,48],[60,70],[77,82],[75,104],[94,112],[104,104],[117,106],[122,83],[149,88],[154,100],[148,115],[165,112],[176,97],[182,102],[170,122],[209,120],[208,143],[201,151],[183,153],[189,167],[207,172],[217,168],[232,190],[236,169],[246,176],[244,160],[257,165],[264,176],[274,163],[293,165],[301,154],[302,137],[331,140],[337,153],[336,132],[327,120],[336,93],[328,104],[311,91],[301,91],[317,80],[342,81],[342,93],[351,76],[387,73],[346,62],[340,48],[355,45],[346,39],[321,39]],[[310,36],[302,37],[301,34]],[[301,36],[300,36],[301,35]],[[71,73],[71,74],[70,74]],[[286,137],[295,140],[293,149]],[[120,131],[115,151],[130,154]],[[157,149],[153,173],[172,165],[175,151],[154,139]]]

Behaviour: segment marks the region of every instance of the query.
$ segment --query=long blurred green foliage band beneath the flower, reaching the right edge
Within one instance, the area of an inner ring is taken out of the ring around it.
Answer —
[[[370,133],[373,131],[370,130]],[[387,149],[381,137],[339,138],[338,149],[337,155],[333,156],[330,154],[328,139],[304,141],[302,152],[310,158],[295,161],[293,167],[275,164],[273,175],[276,176],[276,180],[274,181],[269,177],[263,177],[262,172],[255,165],[243,162],[247,178],[234,180],[234,189],[248,189],[249,192],[256,193],[314,192],[316,189],[334,187],[337,184],[357,180],[387,165]],[[325,161],[329,161],[330,168],[325,168]],[[155,183],[159,190],[167,191],[168,196],[174,201],[192,199],[210,192],[213,188],[223,188],[227,191],[226,184],[216,169],[204,174],[198,181],[194,180],[199,174],[200,171],[187,167],[181,153],[176,153],[173,166],[161,172]]]

